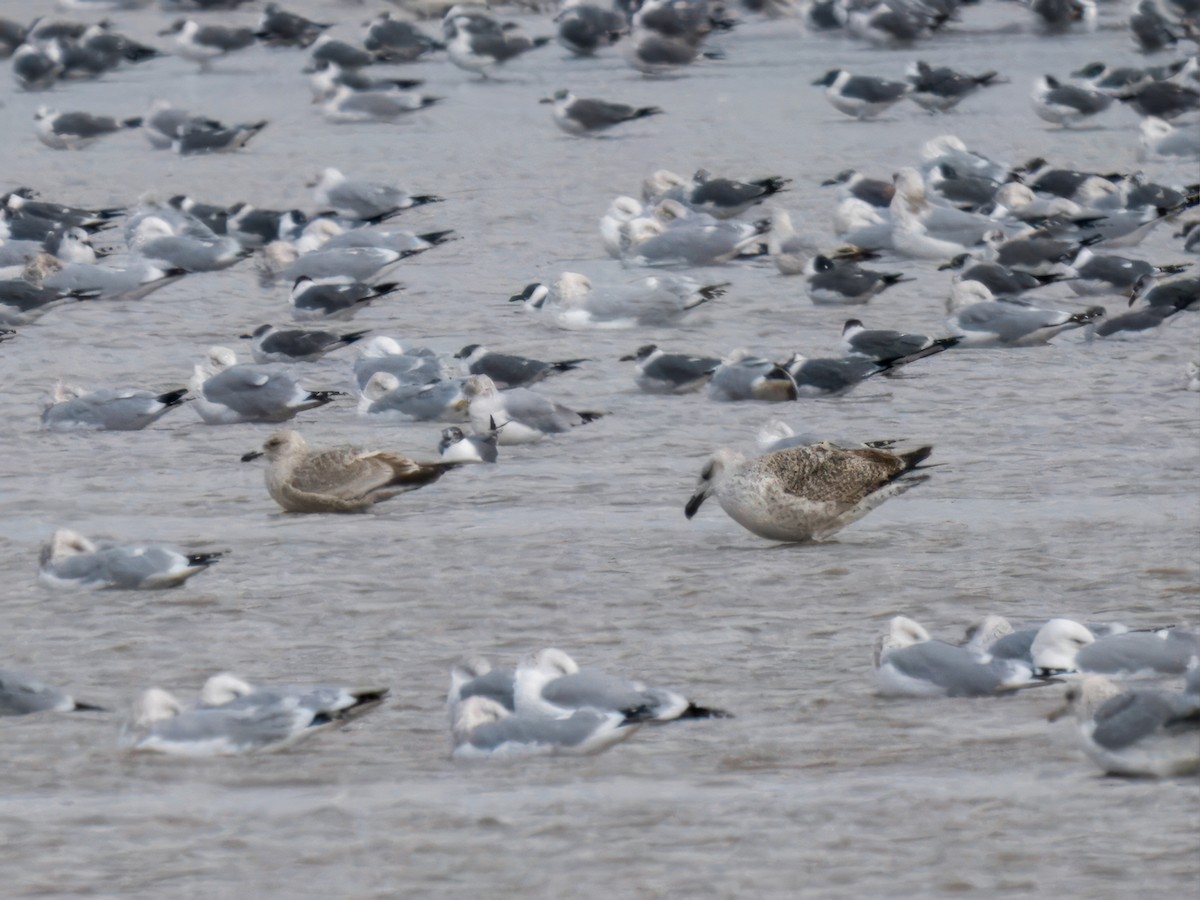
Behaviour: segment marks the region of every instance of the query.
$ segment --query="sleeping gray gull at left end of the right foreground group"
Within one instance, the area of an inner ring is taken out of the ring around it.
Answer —
[[[935,641],[904,616],[877,644],[875,682],[880,694],[899,697],[980,697],[1042,683],[1028,665]]]

